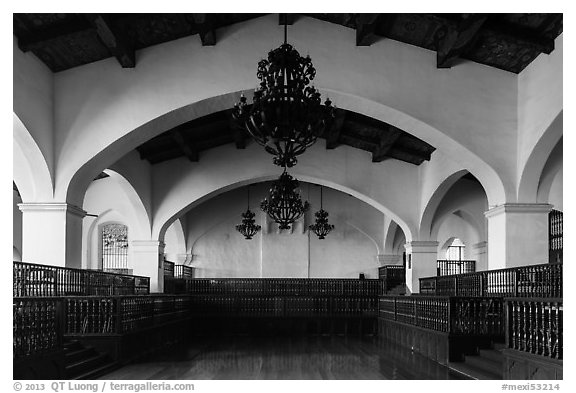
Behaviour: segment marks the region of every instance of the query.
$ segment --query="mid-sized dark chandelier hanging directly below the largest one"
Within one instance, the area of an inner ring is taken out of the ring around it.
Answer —
[[[279,224],[280,229],[290,229],[290,225],[298,220],[309,209],[310,204],[302,202],[297,192],[298,180],[284,172],[278,180],[272,183],[270,195],[260,204],[261,209]]]

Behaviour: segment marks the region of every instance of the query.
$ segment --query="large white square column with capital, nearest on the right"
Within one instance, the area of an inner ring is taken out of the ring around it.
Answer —
[[[505,203],[488,219],[488,270],[548,262],[547,203]]]

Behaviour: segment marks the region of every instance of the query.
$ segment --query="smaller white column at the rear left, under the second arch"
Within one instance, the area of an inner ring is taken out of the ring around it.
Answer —
[[[132,240],[134,274],[150,277],[150,293],[164,292],[164,242]]]

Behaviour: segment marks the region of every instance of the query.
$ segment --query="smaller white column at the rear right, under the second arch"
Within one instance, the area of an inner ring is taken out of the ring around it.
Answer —
[[[412,241],[406,248],[406,288],[410,293],[420,292],[420,278],[436,276],[438,242]]]

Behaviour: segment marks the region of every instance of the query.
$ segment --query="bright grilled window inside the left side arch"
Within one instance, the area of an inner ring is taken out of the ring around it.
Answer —
[[[128,227],[110,223],[102,226],[102,270],[130,273],[128,267]]]

